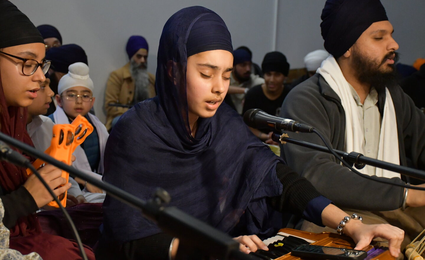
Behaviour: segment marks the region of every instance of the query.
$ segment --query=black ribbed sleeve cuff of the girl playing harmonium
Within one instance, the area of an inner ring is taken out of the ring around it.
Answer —
[[[280,212],[289,211],[302,216],[307,204],[321,195],[312,183],[283,163],[276,165],[276,174],[283,190],[282,195],[271,198],[271,204]]]

